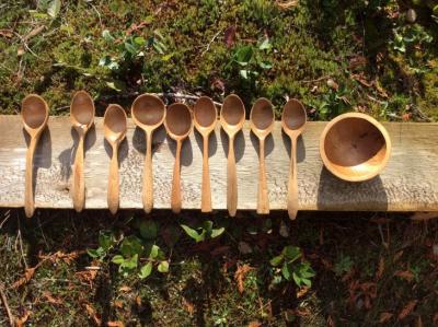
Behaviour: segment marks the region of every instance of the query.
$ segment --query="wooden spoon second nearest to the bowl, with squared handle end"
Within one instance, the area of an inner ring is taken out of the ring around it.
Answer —
[[[260,141],[260,171],[258,171],[258,197],[257,213],[269,213],[269,199],[267,194],[266,170],[265,170],[265,139],[274,128],[273,104],[264,97],[258,98],[250,114],[251,130]]]

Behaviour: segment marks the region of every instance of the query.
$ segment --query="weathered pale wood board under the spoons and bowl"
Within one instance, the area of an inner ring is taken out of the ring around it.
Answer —
[[[77,143],[68,117],[50,117],[35,153],[35,205],[72,208],[69,195],[71,164]],[[325,122],[309,122],[298,143],[300,210],[438,211],[438,124],[384,124],[393,153],[383,173],[372,180],[351,184],[323,168],[319,137]],[[0,207],[24,201],[25,132],[19,116],[0,116]],[[246,121],[235,140],[239,209],[256,208],[257,140]],[[103,119],[96,118],[87,138],[85,208],[107,208],[106,186],[111,148],[104,141]],[[120,208],[142,208],[141,183],[145,136],[129,119],[120,147]],[[194,131],[182,152],[183,209],[200,208],[201,138]],[[218,124],[210,138],[210,175],[214,209],[226,209],[228,139]],[[266,170],[272,210],[286,209],[290,142],[276,122],[266,142]],[[153,137],[154,208],[169,209],[175,143],[164,128]]]

